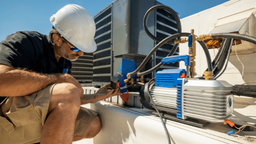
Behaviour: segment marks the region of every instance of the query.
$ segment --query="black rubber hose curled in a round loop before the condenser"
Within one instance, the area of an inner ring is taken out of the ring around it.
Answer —
[[[149,32],[149,30],[147,29],[147,18],[148,18],[148,16],[149,16],[149,14],[152,13],[152,11],[157,10],[157,9],[164,9],[164,10],[168,11],[169,13],[171,13],[172,16],[174,17],[174,19],[175,19],[177,25],[178,25],[178,33],[181,33],[181,23],[180,23],[180,18],[179,18],[179,16],[178,16],[178,14],[177,14],[172,8],[170,8],[169,6],[166,6],[166,5],[156,5],[156,6],[153,6],[152,8],[150,8],[150,9],[146,12],[146,14],[145,14],[145,16],[144,16],[143,27],[144,27],[144,29],[145,29],[145,31],[146,31],[146,34],[147,34],[151,39],[153,39],[153,40],[155,40],[155,41],[157,41],[157,42],[162,41],[162,39],[159,39],[159,38],[155,37],[155,36],[152,35],[152,34]],[[180,38],[178,37],[178,39],[180,39]],[[171,39],[170,39],[170,40],[171,40]],[[169,41],[169,40],[168,40],[168,42],[166,42],[166,44],[174,44],[174,41]]]

